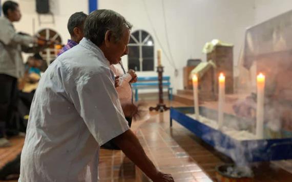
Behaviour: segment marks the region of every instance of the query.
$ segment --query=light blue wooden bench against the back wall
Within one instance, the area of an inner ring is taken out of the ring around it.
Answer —
[[[172,87],[170,76],[162,77],[162,87],[168,88],[169,100],[172,100]],[[132,89],[135,90],[135,101],[138,101],[138,89],[158,88],[158,77],[138,77],[136,83],[132,83]]]

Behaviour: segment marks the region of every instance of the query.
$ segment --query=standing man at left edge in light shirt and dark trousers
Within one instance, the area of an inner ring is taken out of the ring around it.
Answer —
[[[0,17],[0,147],[9,146],[4,138],[14,133],[13,115],[17,112],[17,79],[24,75],[22,51],[30,52],[28,46],[38,40],[16,33],[12,22],[19,21],[21,13],[18,4],[6,1],[3,4],[4,17]]]

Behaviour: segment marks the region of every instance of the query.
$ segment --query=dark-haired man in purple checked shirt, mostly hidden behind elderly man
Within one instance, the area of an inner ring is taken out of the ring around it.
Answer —
[[[67,44],[59,51],[58,56],[73,48],[84,37],[83,27],[86,17],[87,14],[83,12],[77,12],[70,16],[67,28],[70,33],[71,39],[69,39]]]

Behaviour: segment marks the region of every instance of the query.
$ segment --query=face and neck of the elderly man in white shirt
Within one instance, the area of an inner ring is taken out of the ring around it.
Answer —
[[[125,28],[122,38],[119,41],[115,41],[114,37],[111,37],[107,50],[104,52],[106,58],[110,61],[110,64],[117,64],[120,62],[123,55],[129,53],[128,43],[130,40],[130,31]]]

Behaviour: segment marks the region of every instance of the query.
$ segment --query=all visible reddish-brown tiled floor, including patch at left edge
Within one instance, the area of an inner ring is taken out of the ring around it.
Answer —
[[[149,102],[155,106],[155,102]],[[168,103],[170,104],[170,103]],[[181,106],[172,103],[173,106]],[[216,152],[193,133],[174,122],[169,125],[169,111],[152,112],[147,122],[133,122],[145,152],[163,172],[171,173],[175,181],[212,181],[215,166],[231,160]],[[14,145],[0,148],[0,167],[21,150],[23,138],[13,139]],[[292,181],[292,174],[270,163],[254,164],[255,181]],[[100,181],[147,181],[147,177],[121,151],[101,150]]]

